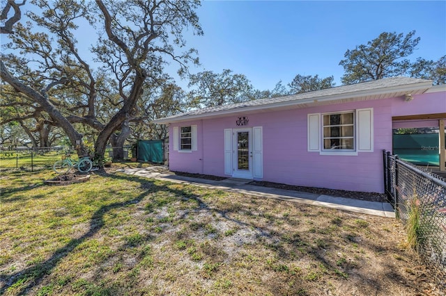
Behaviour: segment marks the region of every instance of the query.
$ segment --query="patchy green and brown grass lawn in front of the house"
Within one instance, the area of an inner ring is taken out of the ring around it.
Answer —
[[[1,175],[0,295],[438,291],[397,220],[120,173],[45,186],[54,175]]]

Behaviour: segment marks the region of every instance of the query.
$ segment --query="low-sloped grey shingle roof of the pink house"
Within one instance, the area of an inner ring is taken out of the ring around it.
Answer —
[[[292,94],[285,97],[274,97],[274,98],[266,98],[266,99],[256,99],[252,101],[245,101],[242,103],[236,104],[228,104],[222,106],[201,108],[197,110],[191,110],[187,113],[180,113],[178,115],[173,115],[169,117],[160,118],[155,120],[154,122],[158,123],[167,123],[167,122],[176,122],[179,120],[187,120],[190,117],[200,117],[200,115],[209,115],[210,113],[221,113],[222,111],[230,112],[233,110],[234,112],[239,111],[240,108],[249,108],[249,107],[259,107],[265,106],[265,108],[272,107],[275,104],[282,104],[285,102],[289,102],[293,104],[300,104],[302,101],[307,99],[330,99],[330,97],[336,97],[343,94],[355,94],[358,92],[374,92],[378,90],[386,90],[390,88],[401,88],[410,86],[420,85],[420,88],[429,88],[431,86],[431,81],[425,79],[414,79],[409,77],[392,77],[388,79],[379,79],[376,81],[368,81],[363,83],[355,83],[352,85],[342,85],[334,88],[328,88],[325,90],[316,90],[313,92],[304,92],[302,94]]]

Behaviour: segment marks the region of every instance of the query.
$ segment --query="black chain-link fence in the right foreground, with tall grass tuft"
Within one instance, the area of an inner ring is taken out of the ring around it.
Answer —
[[[446,288],[446,182],[384,151],[385,192],[406,225],[408,242]]]

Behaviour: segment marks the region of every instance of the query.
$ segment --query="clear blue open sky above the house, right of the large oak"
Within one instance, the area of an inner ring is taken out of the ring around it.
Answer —
[[[187,44],[201,67],[190,72],[232,69],[260,90],[296,74],[333,75],[341,85],[346,50],[382,32],[415,30],[413,60],[446,54],[446,1],[203,1],[198,15],[204,35]]]

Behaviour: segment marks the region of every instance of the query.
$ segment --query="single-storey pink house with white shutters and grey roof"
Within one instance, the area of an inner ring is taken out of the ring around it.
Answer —
[[[392,129],[438,127],[446,87],[394,77],[192,110],[169,124],[169,169],[298,186],[383,192]]]

